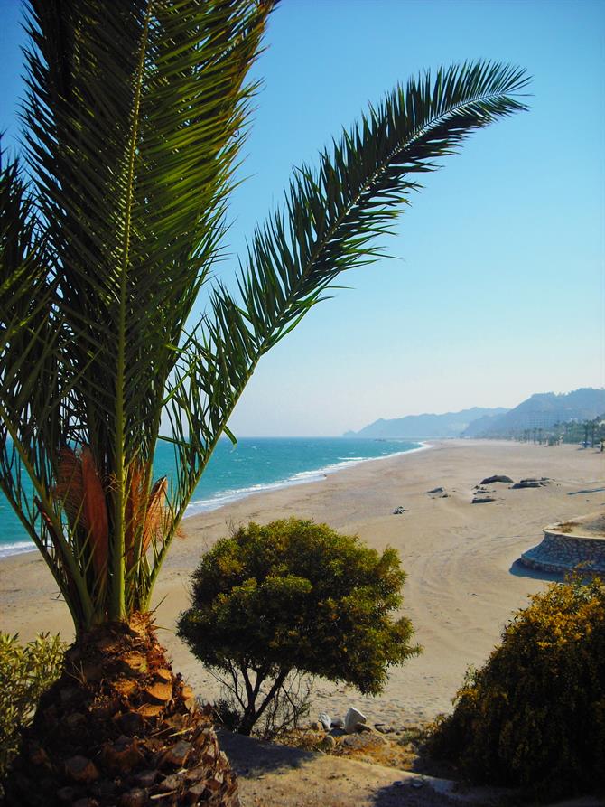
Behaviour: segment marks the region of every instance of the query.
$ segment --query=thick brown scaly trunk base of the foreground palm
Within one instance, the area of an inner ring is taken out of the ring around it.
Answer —
[[[209,713],[172,673],[149,615],[99,626],[70,648],[25,732],[5,799],[11,807],[239,807]]]

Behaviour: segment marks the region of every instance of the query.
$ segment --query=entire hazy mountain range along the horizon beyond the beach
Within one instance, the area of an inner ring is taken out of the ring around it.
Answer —
[[[556,394],[538,392],[513,409],[473,407],[442,415],[378,418],[349,437],[506,437],[524,428],[549,428],[566,420],[591,420],[605,413],[605,389],[583,387]]]

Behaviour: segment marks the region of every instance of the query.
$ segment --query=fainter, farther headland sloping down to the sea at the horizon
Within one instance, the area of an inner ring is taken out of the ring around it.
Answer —
[[[405,418],[385,420],[379,418],[358,432],[349,431],[346,437],[459,437],[475,420],[498,417],[508,409],[473,407],[461,412],[442,415],[407,415]]]

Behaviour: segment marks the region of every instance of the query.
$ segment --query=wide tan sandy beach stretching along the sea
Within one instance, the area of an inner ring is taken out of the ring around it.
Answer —
[[[407,572],[405,613],[423,653],[391,671],[384,693],[363,698],[355,690],[317,682],[313,714],[343,715],[356,705],[372,722],[432,718],[451,708],[466,668],[489,656],[503,625],[550,579],[516,564],[554,521],[597,511],[605,504],[605,464],[596,450],[493,441],[444,441],[409,455],[358,464],[321,482],[258,493],[184,521],[155,590],[161,639],[204,699],[219,694],[216,681],[174,635],[188,605],[188,578],[200,553],[228,532],[229,524],[296,515],[325,521],[370,546],[395,547]],[[473,487],[491,474],[518,480],[546,476],[537,489],[489,488],[495,502],[472,504]],[[440,486],[447,498],[427,492]],[[405,512],[394,515],[403,506]],[[0,563],[0,629],[72,636],[67,607],[37,553]]]

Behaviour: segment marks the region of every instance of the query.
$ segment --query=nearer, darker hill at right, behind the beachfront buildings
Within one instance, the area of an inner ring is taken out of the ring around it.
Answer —
[[[475,420],[463,437],[507,437],[525,428],[550,428],[569,420],[592,420],[605,411],[605,389],[583,387],[556,395],[538,392],[495,418]]]

